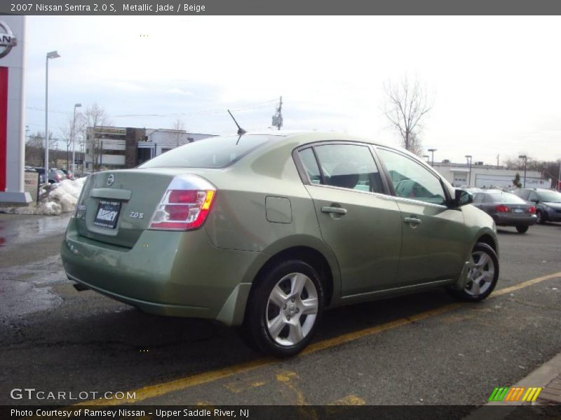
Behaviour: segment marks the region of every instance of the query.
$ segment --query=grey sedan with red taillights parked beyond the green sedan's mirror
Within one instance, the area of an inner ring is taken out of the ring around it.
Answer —
[[[520,233],[527,232],[537,221],[534,204],[501,190],[475,192],[473,205],[489,214],[497,226],[514,226]]]

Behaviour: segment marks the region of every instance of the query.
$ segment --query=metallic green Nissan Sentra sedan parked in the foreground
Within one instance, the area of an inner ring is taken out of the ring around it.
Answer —
[[[348,134],[212,137],[88,176],[69,279],[152,314],[241,326],[275,356],[324,309],[444,286],[485,299],[496,228],[433,168]]]

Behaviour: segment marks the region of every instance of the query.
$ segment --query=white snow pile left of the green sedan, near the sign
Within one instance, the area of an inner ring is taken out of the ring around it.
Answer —
[[[60,183],[51,184],[49,190],[41,188],[39,191],[39,202],[36,206],[29,207],[5,207],[0,211],[11,214],[45,214],[47,216],[58,216],[76,209],[76,203],[86,177],[79,179],[65,179]]]

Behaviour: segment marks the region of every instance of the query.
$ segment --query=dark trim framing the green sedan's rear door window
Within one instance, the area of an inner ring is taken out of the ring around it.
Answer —
[[[321,165],[319,163],[319,159],[318,159],[318,155],[316,153],[316,147],[317,146],[327,146],[330,144],[334,144],[334,145],[342,145],[342,146],[362,146],[368,149],[368,151],[370,151],[370,155],[372,156],[372,160],[374,161],[374,165],[376,165],[376,169],[378,169],[378,172],[380,174],[380,179],[381,179],[381,183],[382,183],[382,188],[384,189],[384,192],[382,193],[378,193],[378,192],[374,192],[374,191],[361,191],[361,190],[352,190],[351,188],[342,188],[342,187],[337,187],[337,186],[330,186],[325,184],[325,175],[323,174],[323,169],[321,168]],[[300,176],[300,179],[302,180],[302,183],[304,183],[304,185],[307,186],[314,186],[314,187],[323,187],[323,188],[335,188],[337,190],[343,190],[343,191],[352,191],[354,193],[363,193],[363,194],[373,194],[373,195],[382,195],[384,197],[386,196],[392,196],[391,194],[391,190],[388,186],[388,181],[386,180],[386,174],[384,173],[384,169],[383,167],[381,167],[380,165],[380,161],[377,157],[377,155],[374,153],[374,150],[372,149],[374,145],[370,144],[370,143],[363,143],[361,141],[344,141],[344,140],[324,140],[324,141],[313,141],[311,143],[306,143],[306,144],[302,144],[301,146],[298,146],[297,148],[295,148],[292,151],[292,160],[294,160],[295,165],[296,165],[296,169],[298,171],[298,174]],[[320,184],[315,184],[311,182],[311,179],[308,175],[308,172],[306,171],[306,168],[304,167],[304,164],[302,163],[302,160],[300,158],[300,151],[303,151],[307,148],[311,148],[313,151],[313,157],[316,158],[316,165],[318,165],[318,168],[320,170],[320,176],[321,176],[321,183]]]

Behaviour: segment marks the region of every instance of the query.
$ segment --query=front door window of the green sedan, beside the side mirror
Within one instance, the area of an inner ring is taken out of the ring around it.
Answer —
[[[446,204],[440,179],[414,160],[399,153],[378,149],[381,160],[391,176],[398,197],[432,204]]]

